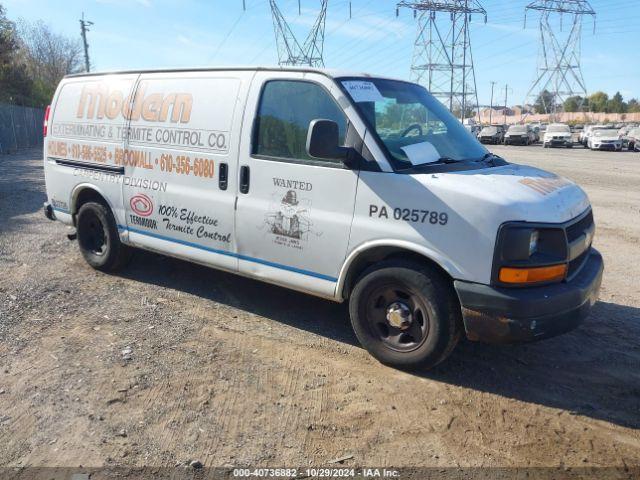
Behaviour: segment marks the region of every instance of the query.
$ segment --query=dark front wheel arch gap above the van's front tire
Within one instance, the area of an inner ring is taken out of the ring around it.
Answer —
[[[455,289],[453,287],[453,278],[449,273],[440,266],[437,262],[429,257],[426,257],[418,252],[407,250],[406,248],[393,247],[393,246],[379,246],[370,248],[360,253],[349,265],[349,269],[345,275],[343,282],[341,298],[347,300],[351,296],[357,281],[360,279],[363,273],[369,270],[378,262],[388,260],[403,260],[418,265],[427,265],[434,270],[438,271],[443,278],[445,278],[450,288],[453,290],[455,296]]]

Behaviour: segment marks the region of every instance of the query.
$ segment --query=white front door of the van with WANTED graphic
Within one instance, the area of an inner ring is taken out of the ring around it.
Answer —
[[[239,270],[333,296],[344,262],[358,171],[306,153],[314,119],[349,121],[334,82],[320,74],[259,72],[247,103],[252,131],[239,160],[236,235]]]

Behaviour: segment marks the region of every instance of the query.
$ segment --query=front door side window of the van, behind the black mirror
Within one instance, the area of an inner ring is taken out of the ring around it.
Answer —
[[[292,80],[265,84],[258,108],[253,153],[266,157],[317,162],[307,154],[309,124],[316,119],[338,124],[344,144],[347,120],[331,96],[319,85]],[[326,162],[323,160],[323,162]],[[336,160],[335,163],[340,163]]]

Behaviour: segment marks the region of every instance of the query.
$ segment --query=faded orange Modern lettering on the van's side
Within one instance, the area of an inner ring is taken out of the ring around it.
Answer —
[[[121,90],[110,90],[104,83],[85,85],[80,94],[77,118],[108,118],[122,115],[127,120],[147,122],[189,123],[193,96],[190,93],[152,93],[146,95],[147,85],[142,82],[135,98],[125,98]]]

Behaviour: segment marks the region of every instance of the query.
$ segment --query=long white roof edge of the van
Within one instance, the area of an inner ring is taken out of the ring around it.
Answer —
[[[102,75],[122,75],[132,73],[174,73],[174,72],[233,72],[233,71],[269,71],[269,72],[306,72],[306,73],[319,73],[330,78],[340,77],[367,77],[367,78],[384,78],[389,80],[400,80],[386,77],[383,75],[371,75],[363,72],[349,72],[327,68],[313,68],[313,67],[292,67],[292,66],[236,66],[236,67],[185,67],[185,68],[151,68],[142,70],[117,70],[117,71],[104,71],[104,72],[81,72],[72,73],[66,75],[64,78],[77,78],[77,77],[94,77]]]

